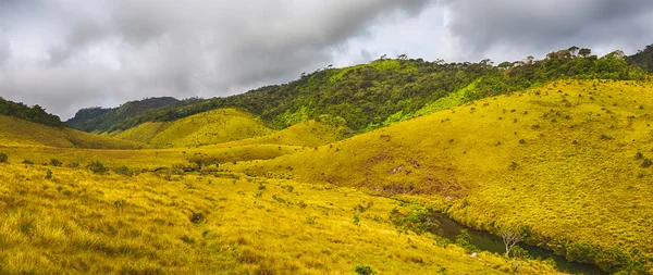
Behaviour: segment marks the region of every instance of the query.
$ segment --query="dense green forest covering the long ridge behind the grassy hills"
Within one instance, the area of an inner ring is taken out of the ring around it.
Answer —
[[[648,48],[649,49],[649,48]],[[650,50],[649,50],[650,51]],[[640,53],[638,53],[640,54]],[[641,55],[641,54],[640,54]],[[636,54],[637,57],[637,54]],[[551,52],[542,60],[494,64],[445,63],[422,59],[382,57],[369,64],[329,66],[299,79],[250,90],[243,95],[193,100],[171,108],[151,108],[139,114],[102,114],[69,125],[84,130],[126,129],[144,122],[174,121],[218,108],[238,108],[259,115],[271,127],[284,128],[309,118],[331,117],[356,132],[366,132],[423,114],[434,102],[458,92],[460,102],[522,90],[546,82],[578,79],[644,79],[644,70],[630,65],[621,51],[602,58],[587,48],[571,47]],[[115,113],[113,110],[110,113]],[[109,118],[107,118],[109,117]]]

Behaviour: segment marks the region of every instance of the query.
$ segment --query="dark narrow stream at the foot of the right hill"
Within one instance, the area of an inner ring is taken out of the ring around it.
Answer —
[[[440,232],[434,233],[441,237],[444,237],[452,242],[456,240],[456,236],[460,235],[463,229],[467,229],[469,235],[473,238],[472,243],[480,250],[496,252],[500,254],[505,253],[505,247],[503,240],[495,235],[489,234],[486,232],[480,232],[470,227],[467,227],[456,221],[451,220],[449,217],[440,214],[433,213],[435,218],[440,222]],[[552,251],[541,249],[539,247],[528,246],[523,242],[518,243],[520,248],[527,250],[529,254],[533,258],[541,258],[542,260],[553,259],[556,263],[556,268],[559,272],[568,273],[568,274],[582,274],[582,275],[605,275],[607,273],[601,271],[599,266],[592,264],[583,264],[583,263],[575,263],[569,262],[565,258],[554,254]]]

